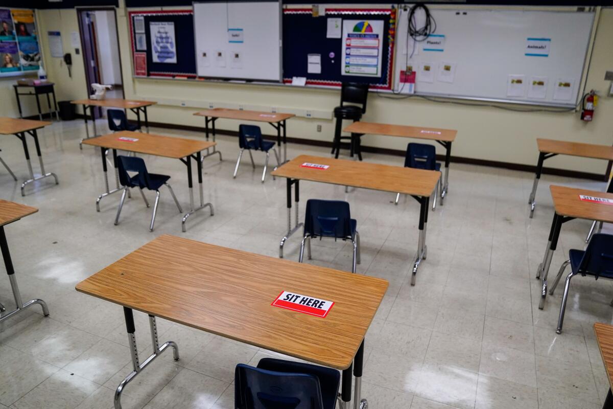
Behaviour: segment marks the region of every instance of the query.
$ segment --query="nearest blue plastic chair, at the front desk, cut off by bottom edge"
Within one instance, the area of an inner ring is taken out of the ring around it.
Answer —
[[[340,372],[319,365],[264,358],[257,368],[238,364],[236,409],[334,409]]]

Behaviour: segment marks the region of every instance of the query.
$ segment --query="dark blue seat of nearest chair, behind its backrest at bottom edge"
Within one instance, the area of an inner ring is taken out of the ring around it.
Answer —
[[[286,373],[307,373],[319,379],[324,409],[334,409],[337,404],[338,386],[341,374],[336,369],[303,362],[284,361],[283,359],[262,358],[257,364],[259,369]]]

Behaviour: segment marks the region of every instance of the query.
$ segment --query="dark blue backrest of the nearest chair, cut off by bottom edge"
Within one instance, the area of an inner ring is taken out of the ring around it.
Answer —
[[[306,373],[273,372],[238,364],[234,384],[237,409],[323,409],[319,380]]]

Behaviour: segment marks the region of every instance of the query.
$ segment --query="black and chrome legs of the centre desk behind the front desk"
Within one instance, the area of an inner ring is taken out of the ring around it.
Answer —
[[[298,203],[300,201],[300,180],[287,178],[287,232],[281,239],[279,244],[279,258],[283,258],[283,246],[289,237],[294,234],[300,227],[304,226],[304,223],[299,222],[298,215]],[[296,223],[295,226],[292,227],[292,185],[294,185],[294,202],[295,202],[295,214],[296,214]],[[422,196],[414,196],[411,195],[413,199],[419,202],[419,239],[417,240],[417,253],[415,256],[415,261],[413,262],[413,269],[411,270],[411,285],[415,285],[415,279],[417,275],[417,269],[419,268],[419,264],[421,264],[422,260],[425,260],[428,254],[428,246],[425,244],[425,236],[428,226],[428,207],[430,204],[430,196],[422,197]]]

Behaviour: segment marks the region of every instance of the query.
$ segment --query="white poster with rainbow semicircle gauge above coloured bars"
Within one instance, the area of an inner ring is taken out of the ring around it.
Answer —
[[[381,77],[383,20],[343,20],[341,75]]]

